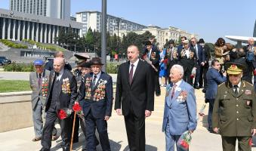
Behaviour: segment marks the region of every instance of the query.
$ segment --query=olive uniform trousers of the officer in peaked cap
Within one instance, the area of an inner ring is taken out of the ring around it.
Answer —
[[[224,137],[222,139],[223,151],[236,151],[236,139],[238,140],[238,150],[239,151],[251,151],[251,146],[249,141],[251,137]]]

